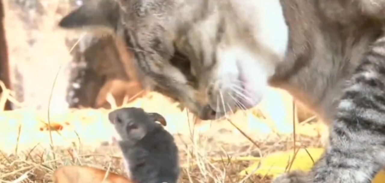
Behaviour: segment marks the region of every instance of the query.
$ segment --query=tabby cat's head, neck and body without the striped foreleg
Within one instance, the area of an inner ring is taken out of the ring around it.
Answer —
[[[101,0],[59,25],[101,27],[125,39],[144,82],[201,119],[254,107],[272,86],[330,125],[346,81],[381,35],[384,10],[381,0]],[[190,73],[169,62],[175,52],[190,60]]]

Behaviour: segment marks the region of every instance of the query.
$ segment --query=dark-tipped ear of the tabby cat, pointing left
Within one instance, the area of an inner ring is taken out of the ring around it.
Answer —
[[[59,22],[66,29],[109,29],[115,32],[119,20],[116,0],[90,1],[70,12]]]

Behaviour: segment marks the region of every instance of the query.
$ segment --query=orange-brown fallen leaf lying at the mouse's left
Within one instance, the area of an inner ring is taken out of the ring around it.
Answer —
[[[52,176],[54,183],[132,183],[126,177],[88,166],[62,166]]]

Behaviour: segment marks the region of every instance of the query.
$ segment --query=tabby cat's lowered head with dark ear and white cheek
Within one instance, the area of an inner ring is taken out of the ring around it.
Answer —
[[[100,0],[59,25],[124,39],[147,84],[201,119],[256,106],[288,42],[279,0]]]

